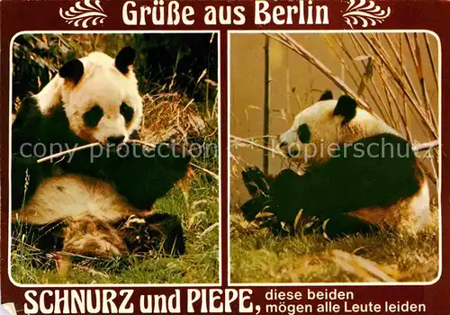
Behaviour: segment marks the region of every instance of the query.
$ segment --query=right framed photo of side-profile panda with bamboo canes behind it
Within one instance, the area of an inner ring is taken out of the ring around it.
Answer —
[[[435,33],[229,33],[231,284],[433,283]]]

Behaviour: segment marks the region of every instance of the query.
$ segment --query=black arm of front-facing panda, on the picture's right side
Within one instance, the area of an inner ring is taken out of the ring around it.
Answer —
[[[190,156],[166,143],[151,149],[129,143],[119,153],[107,159],[103,174],[118,193],[141,210],[150,209],[184,178],[190,161]]]

